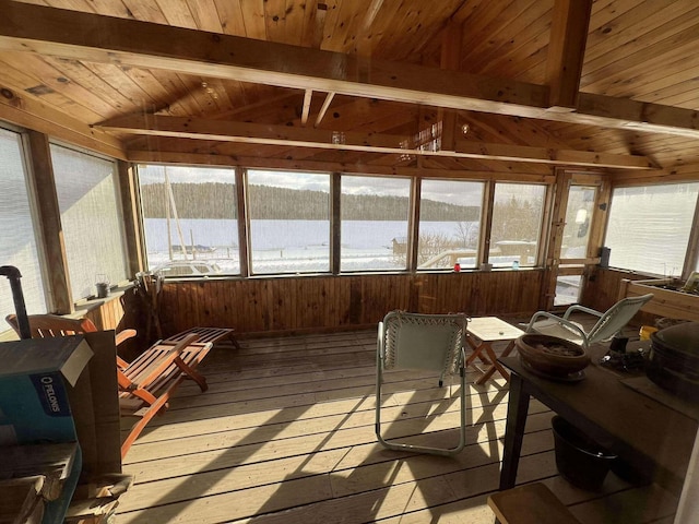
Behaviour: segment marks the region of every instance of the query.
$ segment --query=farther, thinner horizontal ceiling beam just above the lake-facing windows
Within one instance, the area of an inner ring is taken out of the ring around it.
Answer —
[[[465,140],[455,141],[453,151],[420,151],[408,136],[345,132],[344,142],[333,140],[333,131],[289,126],[230,122],[185,117],[131,116],[112,119],[97,126],[102,130],[170,136],[178,139],[215,140],[221,142],[256,143],[287,147],[360,151],[381,154],[479,158],[560,166],[605,167],[618,169],[653,169],[644,156],[612,155],[588,151],[549,150],[511,144],[487,144]],[[401,147],[401,144],[411,147]]]

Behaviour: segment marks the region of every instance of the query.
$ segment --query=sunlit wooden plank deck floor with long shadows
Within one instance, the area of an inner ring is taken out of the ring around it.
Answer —
[[[242,342],[214,348],[210,390],[183,384],[131,448],[120,499],[128,523],[487,523],[507,415],[502,379],[469,374],[467,446],[455,457],[396,453],[374,433],[374,331]],[[455,438],[459,388],[405,372],[388,378],[386,430]],[[437,402],[435,402],[437,401]],[[407,404],[407,407],[400,407]],[[677,501],[609,474],[603,491],[557,475],[552,413],[532,402],[518,484],[544,480],[583,523],[671,524]]]

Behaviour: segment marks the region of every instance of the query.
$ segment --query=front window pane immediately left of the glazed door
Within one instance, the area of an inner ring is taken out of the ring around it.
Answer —
[[[496,183],[488,260],[494,267],[536,264],[546,188]]]

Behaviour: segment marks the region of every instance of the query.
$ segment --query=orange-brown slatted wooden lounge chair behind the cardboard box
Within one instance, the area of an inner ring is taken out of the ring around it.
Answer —
[[[7,321],[19,332],[14,314],[8,315]],[[97,331],[90,319],[69,319],[56,314],[29,315],[29,327],[33,337],[66,336]],[[123,342],[134,334],[134,330],[125,330],[116,335],[116,342]],[[170,397],[185,379],[194,380],[202,392],[206,391],[206,380],[194,369],[209,354],[212,343],[197,342],[198,337],[197,333],[192,333],[178,342],[156,342],[131,362],[116,357],[121,415],[140,418],[121,443],[122,458],[151,418],[167,409]]]

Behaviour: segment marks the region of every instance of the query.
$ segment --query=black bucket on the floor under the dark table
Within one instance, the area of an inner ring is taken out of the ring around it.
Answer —
[[[616,455],[592,441],[565,418],[552,419],[556,445],[556,467],[570,484],[596,491],[604,483]]]

